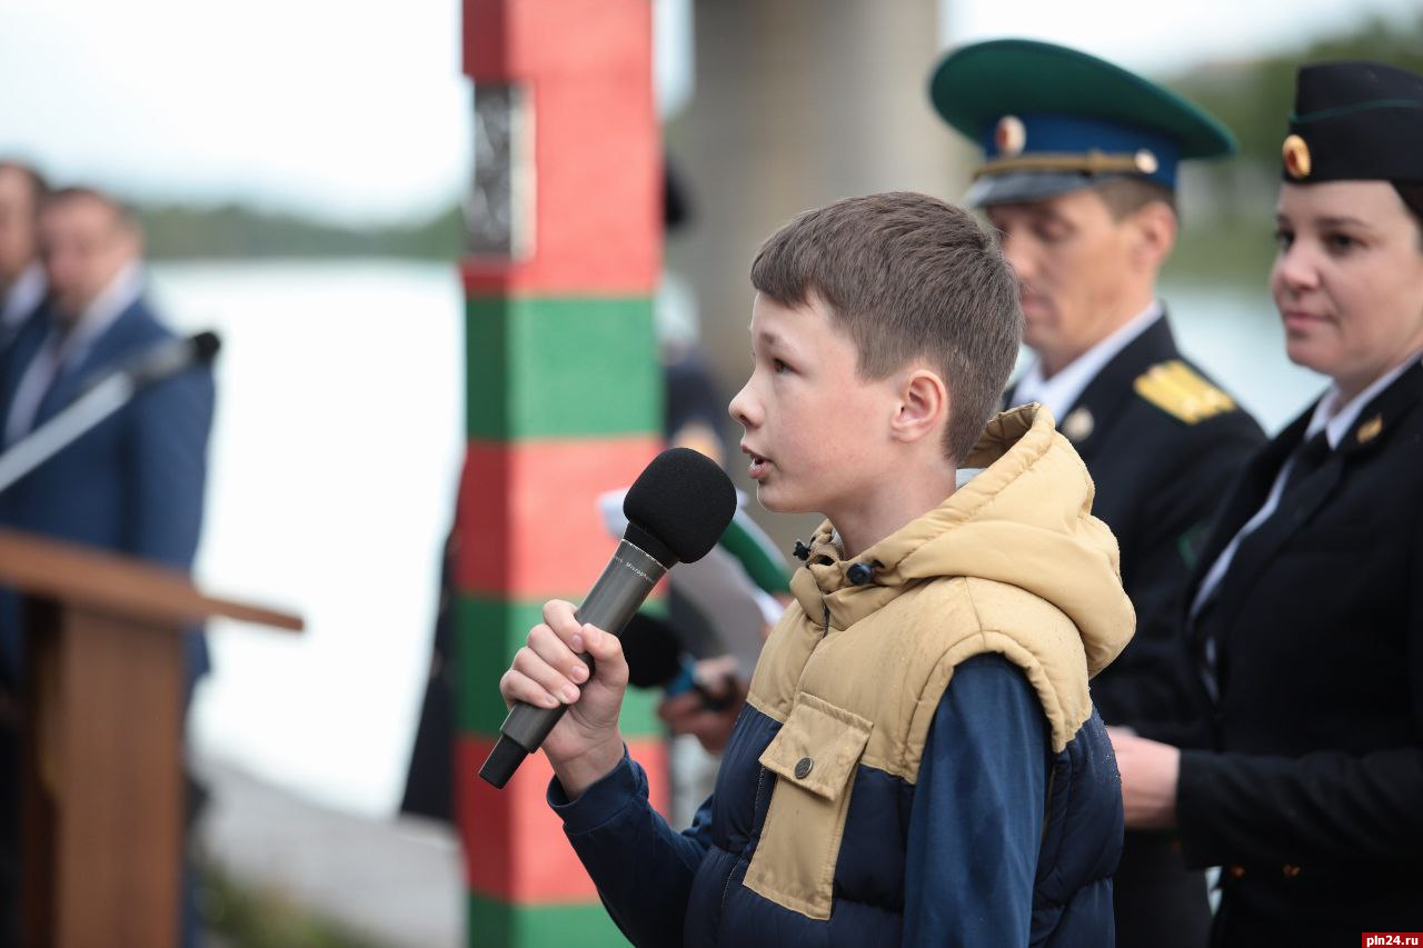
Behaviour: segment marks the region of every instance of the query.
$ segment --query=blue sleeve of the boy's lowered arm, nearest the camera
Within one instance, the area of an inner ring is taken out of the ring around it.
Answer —
[[[1047,722],[998,655],[953,670],[909,816],[904,944],[1026,945],[1047,784]]]

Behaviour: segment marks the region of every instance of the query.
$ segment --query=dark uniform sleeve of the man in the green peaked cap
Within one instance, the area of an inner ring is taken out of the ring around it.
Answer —
[[[1231,483],[1265,436],[1244,411],[1201,423],[1181,451],[1163,458],[1157,488],[1143,498],[1130,562],[1123,559],[1137,631],[1121,658],[1093,683],[1093,700],[1109,725],[1147,737],[1197,743],[1195,683],[1181,642],[1184,592]],[[1164,716],[1165,712],[1165,716]]]

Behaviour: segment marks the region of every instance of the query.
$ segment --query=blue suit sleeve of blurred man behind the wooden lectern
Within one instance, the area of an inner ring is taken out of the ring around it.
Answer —
[[[202,530],[213,386],[194,369],[141,391],[129,450],[127,551],[186,571]]]

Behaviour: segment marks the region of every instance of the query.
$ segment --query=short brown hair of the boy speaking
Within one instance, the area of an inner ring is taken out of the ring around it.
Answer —
[[[824,300],[862,379],[915,359],[933,366],[949,389],[955,461],[998,411],[1023,339],[1017,278],[998,238],[962,208],[908,191],[801,214],[761,245],[751,285],[787,307]]]

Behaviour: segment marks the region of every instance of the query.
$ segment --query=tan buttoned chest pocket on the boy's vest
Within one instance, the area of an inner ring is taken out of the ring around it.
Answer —
[[[804,692],[761,766],[776,774],[746,887],[810,918],[830,918],[850,791],[871,723]]]

